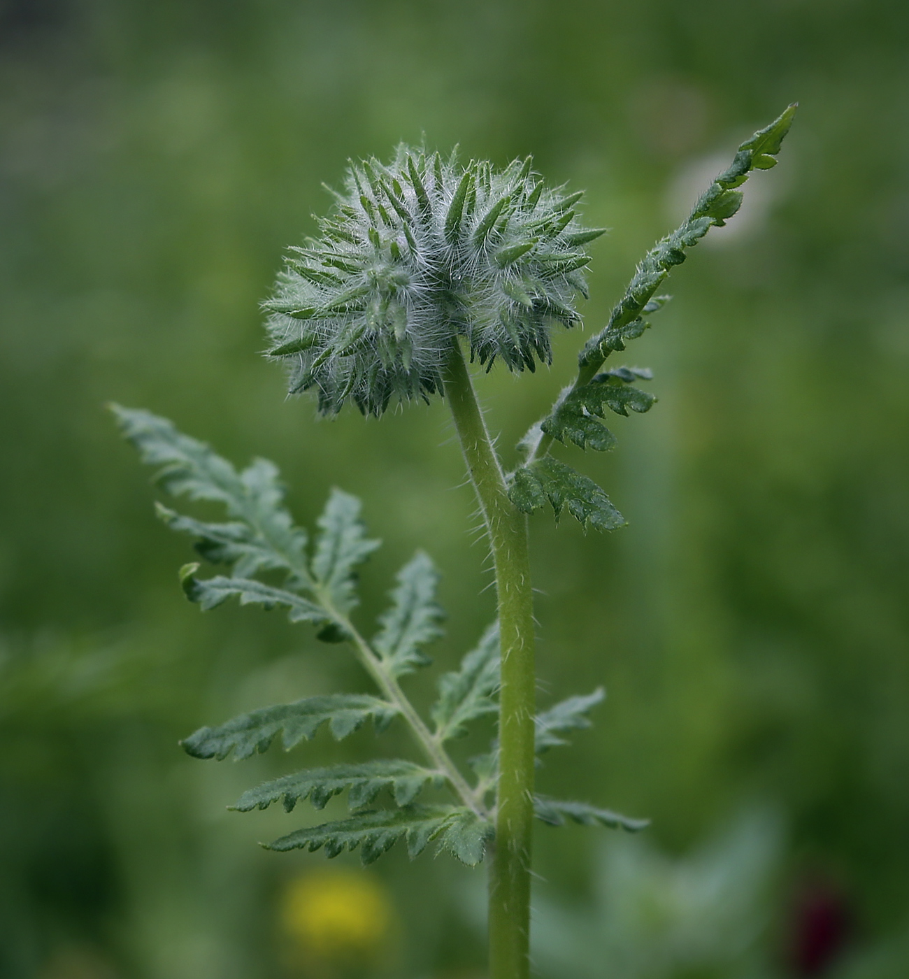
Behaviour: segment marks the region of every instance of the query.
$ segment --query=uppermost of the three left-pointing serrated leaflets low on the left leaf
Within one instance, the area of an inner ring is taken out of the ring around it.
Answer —
[[[328,723],[336,740],[346,737],[372,718],[376,730],[385,730],[397,715],[397,708],[362,693],[335,693],[323,697],[305,697],[292,704],[262,707],[242,714],[216,727],[201,727],[180,742],[193,758],[216,758],[221,761],[234,752],[240,761],[268,750],[281,733],[285,751],[308,741],[319,727]]]

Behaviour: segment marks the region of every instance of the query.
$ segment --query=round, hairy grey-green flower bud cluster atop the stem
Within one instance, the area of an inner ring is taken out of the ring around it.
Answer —
[[[405,146],[387,165],[351,165],[321,237],[293,249],[272,299],[268,355],[292,394],[315,389],[334,414],[442,392],[452,343],[514,371],[552,357],[554,323],[578,321],[583,246],[603,234],[575,218],[580,193],[543,186],[530,159],[490,163]]]

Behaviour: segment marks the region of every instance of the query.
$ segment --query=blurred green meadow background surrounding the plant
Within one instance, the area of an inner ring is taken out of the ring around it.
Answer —
[[[629,527],[531,521],[540,702],[609,690],[539,784],[654,820],[634,841],[541,825],[534,957],[591,979],[909,974],[909,6],[4,0],[0,79],[0,976],[481,975],[481,872],[392,851],[350,876],[255,846],[309,813],[225,811],[304,753],[376,750],[370,731],[238,766],[177,749],[367,684],[306,629],[182,598],[191,551],[104,402],[273,458],[302,523],[333,485],[362,495],[386,546],[361,621],[426,546],[449,669],[492,596],[444,406],[316,420],[259,356],[257,303],[321,181],[424,134],[532,153],[613,229],[598,328],[795,100],[780,165],[626,354],[658,406],[609,457],[574,454]],[[506,451],[580,342],[480,381]],[[413,686],[427,702],[432,677]]]

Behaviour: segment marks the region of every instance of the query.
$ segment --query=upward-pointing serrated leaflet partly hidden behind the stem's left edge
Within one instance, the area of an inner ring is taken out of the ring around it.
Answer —
[[[438,700],[432,706],[435,737],[439,742],[467,733],[465,724],[498,710],[499,624],[483,633],[476,649],[461,661],[459,670],[438,680]]]

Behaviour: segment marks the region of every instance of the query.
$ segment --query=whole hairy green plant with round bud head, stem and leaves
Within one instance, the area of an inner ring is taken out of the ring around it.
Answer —
[[[439,635],[437,574],[418,552],[398,573],[391,605],[367,638],[353,620],[357,566],[378,546],[360,520],[359,501],[335,490],[318,520],[310,548],[283,502],[276,467],[257,459],[242,472],[207,445],[146,411],[114,406],[125,436],[146,462],[162,467],[159,482],[173,495],[214,500],[228,520],[208,523],[161,504],[173,530],[196,538],[205,560],[229,575],[199,577],[198,563],[181,570],[184,591],[205,609],[229,598],[284,607],[293,622],[308,622],[319,638],[350,646],[377,694],[332,694],[261,708],[215,727],[203,727],[183,746],[197,758],[237,759],[268,749],[280,734],[286,749],[328,724],[337,738],[372,720],[407,725],[422,756],[305,769],[244,793],[236,809],[282,802],[291,812],[309,799],[322,809],[346,791],[350,816],[296,829],[269,844],[274,850],[324,849],[334,857],[359,847],[364,862],[397,840],[411,856],[434,841],[469,864],[491,854],[489,956],[491,979],[525,979],[528,970],[530,844],[534,817],[637,830],[646,820],[534,793],[538,755],[565,744],[563,735],[589,725],[603,691],[570,697],[538,713],[533,665],[534,624],[527,514],[549,503],[584,526],[613,530],[624,521],[591,479],[549,454],[553,441],[607,450],[615,439],[606,409],[644,412],[654,396],[637,386],[649,371],[603,370],[607,358],[640,337],[647,317],[667,297],[657,290],[715,225],[739,209],[737,188],[753,169],[776,163],[795,106],[743,143],[733,163],[710,184],[682,225],[638,265],[606,326],[578,356],[574,382],[550,413],[524,436],[523,464],[506,473],[477,404],[465,357],[489,369],[496,358],[514,371],[551,359],[550,330],[579,321],[575,297],[586,295],[584,245],[602,234],[578,222],[580,195],[547,189],[529,160],[502,171],[488,163],[461,165],[455,157],[400,147],[387,165],[351,166],[335,212],[321,237],[293,250],[270,316],[269,356],[288,365],[290,390],[313,389],[319,408],[335,414],[350,399],[381,415],[392,398],[443,396],[454,420],[477,492],[495,567],[497,621],[460,668],[441,676],[427,723],[400,680],[426,666],[425,647]],[[280,585],[263,572],[284,576]],[[465,725],[494,713],[497,737],[472,762],[468,776],[447,743]],[[421,793],[446,789],[450,801],[418,803]],[[386,805],[377,807],[377,799]]]

